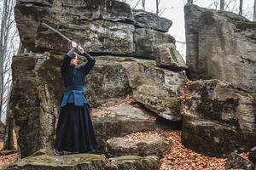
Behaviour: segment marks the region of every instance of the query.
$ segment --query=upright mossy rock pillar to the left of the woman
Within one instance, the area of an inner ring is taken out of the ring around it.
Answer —
[[[49,97],[55,95],[49,92],[49,88],[54,84],[44,83],[44,79],[38,81],[40,79],[38,69],[40,65],[44,65],[46,59],[49,59],[49,54],[20,54],[13,58],[10,109],[14,114],[21,157],[29,156],[44,145],[53,144],[56,108],[55,100]],[[50,72],[55,73],[55,70]],[[60,82],[58,79],[60,76],[57,74],[51,78]]]

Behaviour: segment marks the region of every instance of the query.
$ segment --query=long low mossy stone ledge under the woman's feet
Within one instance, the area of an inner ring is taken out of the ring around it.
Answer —
[[[47,148],[38,150],[31,156],[15,161],[5,170],[70,170],[70,169],[94,169],[94,170],[158,170],[160,161],[157,156],[120,156],[106,158],[106,156],[88,153],[69,154],[63,156],[53,155],[53,151]]]

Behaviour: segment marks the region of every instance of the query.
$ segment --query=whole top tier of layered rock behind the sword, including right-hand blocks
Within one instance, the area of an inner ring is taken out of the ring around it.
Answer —
[[[15,21],[24,47],[37,52],[51,50],[59,53],[68,49],[67,40],[43,23],[79,42],[86,51],[96,54],[154,58],[151,53],[154,45],[175,42],[172,36],[162,33],[172,26],[171,20],[145,11],[135,10],[134,13],[135,18],[127,3],[116,0],[19,0],[15,6]],[[148,19],[151,22],[145,23]],[[138,36],[136,32],[142,35]],[[142,40],[147,38],[153,42],[144,44]]]

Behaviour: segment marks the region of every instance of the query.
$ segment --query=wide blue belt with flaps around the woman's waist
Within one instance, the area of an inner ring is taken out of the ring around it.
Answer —
[[[65,93],[61,99],[61,107],[67,105],[67,103],[73,103],[77,106],[82,106],[84,103],[88,103],[84,94],[84,86],[70,85],[67,86]]]

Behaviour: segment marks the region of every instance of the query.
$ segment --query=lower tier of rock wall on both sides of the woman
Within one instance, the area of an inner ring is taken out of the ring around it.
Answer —
[[[10,109],[15,115],[21,157],[54,144],[59,102],[65,91],[59,68],[62,58],[63,55],[57,54],[29,53],[13,59],[14,88]],[[108,138],[158,127],[156,115],[180,120],[182,105],[177,102],[177,88],[185,77],[154,65],[154,61],[147,59],[96,57],[96,65],[87,75],[84,86],[91,109],[109,102],[120,102],[125,96],[134,93],[135,98],[151,110],[125,105],[108,108],[109,115],[95,117],[93,122],[102,150]],[[143,91],[142,87],[146,84],[148,89],[150,86],[156,88],[160,94]],[[155,97],[150,98],[152,95]],[[151,105],[150,102],[156,103]],[[119,127],[119,131],[116,127]]]

